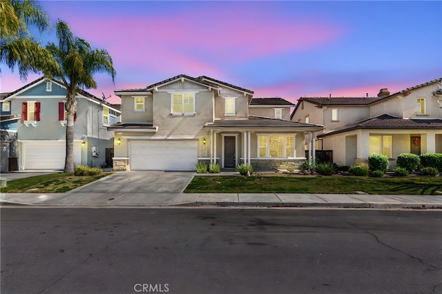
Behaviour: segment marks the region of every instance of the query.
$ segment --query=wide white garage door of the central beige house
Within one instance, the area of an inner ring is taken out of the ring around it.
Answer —
[[[131,141],[131,170],[194,170],[198,141]]]

